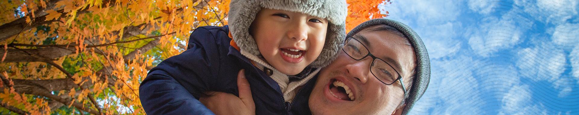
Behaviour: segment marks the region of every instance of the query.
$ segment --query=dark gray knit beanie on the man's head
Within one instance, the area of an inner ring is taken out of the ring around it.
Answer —
[[[412,88],[408,92],[408,98],[406,101],[406,107],[402,114],[408,114],[414,106],[414,103],[422,97],[426,88],[428,87],[428,82],[430,82],[430,59],[428,58],[428,52],[426,51],[426,46],[422,43],[422,39],[412,30],[412,28],[406,26],[406,24],[402,24],[398,21],[390,20],[390,19],[372,19],[365,21],[364,23],[356,26],[353,30],[348,33],[348,36],[353,36],[354,34],[360,32],[366,27],[373,26],[376,24],[386,24],[388,26],[394,27],[398,29],[402,34],[408,38],[408,41],[414,47],[414,51],[416,53],[416,74],[414,76],[414,81],[412,84]]]

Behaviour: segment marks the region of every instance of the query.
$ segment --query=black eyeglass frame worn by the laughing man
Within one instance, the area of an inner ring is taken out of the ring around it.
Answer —
[[[396,78],[396,80],[394,80],[394,82],[400,81],[400,85],[402,85],[402,91],[404,91],[404,95],[406,95],[406,88],[404,87],[404,82],[402,82],[402,76],[400,76],[400,73],[398,73],[398,71],[397,71],[396,69],[394,69],[394,67],[392,67],[392,65],[390,65],[390,63],[387,63],[386,61],[380,59],[379,57],[376,57],[376,56],[372,55],[372,53],[370,52],[370,50],[368,49],[368,47],[366,47],[366,45],[362,44],[362,42],[358,41],[358,39],[356,39],[356,38],[354,38],[354,37],[347,36],[347,37],[346,37],[346,41],[344,42],[344,45],[346,45],[348,42],[350,42],[351,39],[356,40],[356,41],[359,42],[362,46],[364,46],[364,48],[366,49],[366,51],[368,51],[368,54],[367,54],[366,56],[362,56],[362,58],[360,58],[360,59],[356,59],[356,58],[352,57],[350,54],[348,54],[348,52],[346,52],[346,51],[344,50],[344,48],[342,48],[342,51],[343,51],[344,53],[346,53],[346,55],[350,56],[350,58],[352,58],[352,59],[354,59],[354,60],[357,60],[357,61],[362,60],[362,59],[364,59],[364,58],[366,58],[366,57],[368,57],[368,56],[372,57],[372,64],[370,65],[370,73],[372,73],[372,76],[374,76],[376,79],[378,79],[378,81],[382,82],[383,84],[386,84],[386,82],[380,80],[380,78],[378,78],[378,77],[376,77],[376,75],[374,75],[374,72],[372,72],[372,66],[374,66],[374,62],[376,61],[376,59],[379,59],[380,61],[388,64],[388,66],[390,66],[390,67],[392,68],[392,70],[394,70],[394,71],[396,72],[396,74],[398,74],[398,78]],[[392,82],[392,83],[390,83],[390,84],[386,84],[386,85],[392,85],[392,84],[394,84],[394,82]]]

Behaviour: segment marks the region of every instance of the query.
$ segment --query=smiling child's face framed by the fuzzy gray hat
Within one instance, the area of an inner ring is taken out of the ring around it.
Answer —
[[[314,62],[324,47],[328,20],[286,10],[262,9],[251,35],[267,63],[295,75]]]

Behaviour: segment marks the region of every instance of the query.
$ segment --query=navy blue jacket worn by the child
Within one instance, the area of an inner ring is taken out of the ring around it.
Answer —
[[[229,45],[228,26],[196,28],[188,49],[163,60],[141,82],[139,94],[147,114],[213,114],[199,102],[206,91],[238,95],[237,73],[245,69],[256,114],[310,114],[307,105],[316,82],[312,78],[292,103],[284,101],[277,82]]]

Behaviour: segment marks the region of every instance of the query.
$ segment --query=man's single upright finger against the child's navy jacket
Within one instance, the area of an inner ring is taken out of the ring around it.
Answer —
[[[239,98],[245,106],[255,107],[253,97],[251,96],[250,83],[245,78],[245,70],[240,70],[237,74],[237,89],[239,89]]]

